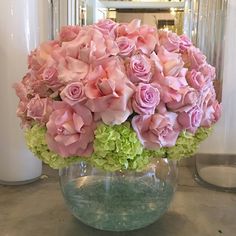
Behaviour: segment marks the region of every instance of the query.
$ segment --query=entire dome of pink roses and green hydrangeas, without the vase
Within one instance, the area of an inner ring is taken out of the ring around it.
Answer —
[[[102,20],[66,26],[14,85],[29,149],[53,168],[86,159],[140,170],[195,153],[219,119],[215,68],[185,36]]]

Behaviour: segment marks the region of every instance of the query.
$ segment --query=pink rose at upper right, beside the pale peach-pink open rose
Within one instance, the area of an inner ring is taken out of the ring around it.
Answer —
[[[206,56],[200,51],[199,48],[194,46],[187,48],[182,56],[185,66],[190,70],[199,70],[199,68],[206,63]]]

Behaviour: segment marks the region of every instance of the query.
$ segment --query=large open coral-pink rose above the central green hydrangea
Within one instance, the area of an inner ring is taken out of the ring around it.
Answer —
[[[117,63],[108,63],[97,70],[96,79],[85,85],[88,97],[86,106],[98,112],[106,124],[121,124],[132,113],[130,99],[134,93],[132,84],[119,69]]]

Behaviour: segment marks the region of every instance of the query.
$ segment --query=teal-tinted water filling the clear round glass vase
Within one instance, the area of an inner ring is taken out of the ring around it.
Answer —
[[[173,187],[150,176],[142,178],[86,176],[63,186],[73,215],[92,227],[125,231],[145,227],[167,210]]]

